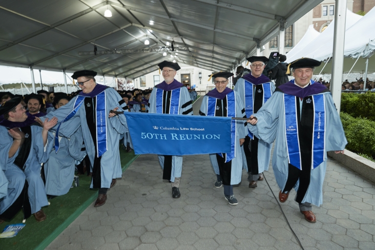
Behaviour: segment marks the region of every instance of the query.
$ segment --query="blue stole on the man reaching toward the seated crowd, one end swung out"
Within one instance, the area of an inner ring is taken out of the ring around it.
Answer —
[[[84,96],[78,96],[73,105],[73,111],[71,111],[64,120],[59,124],[56,129],[55,135],[55,151],[59,151],[59,130],[62,123],[70,120],[80,109],[84,101]],[[106,110],[105,110],[105,91],[96,96],[96,146],[98,148],[98,158],[102,156],[107,151],[107,120],[106,120]]]

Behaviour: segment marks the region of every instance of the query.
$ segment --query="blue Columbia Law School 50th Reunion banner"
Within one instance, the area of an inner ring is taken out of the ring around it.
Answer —
[[[230,117],[125,112],[135,154],[231,152]]]

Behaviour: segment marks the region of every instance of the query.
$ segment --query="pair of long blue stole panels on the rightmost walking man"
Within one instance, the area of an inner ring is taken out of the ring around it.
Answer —
[[[313,95],[312,101],[314,105],[314,124],[311,169],[314,169],[324,161],[326,114],[323,94]],[[302,170],[296,105],[299,105],[299,103],[296,102],[295,96],[284,94],[285,134],[289,163]]]

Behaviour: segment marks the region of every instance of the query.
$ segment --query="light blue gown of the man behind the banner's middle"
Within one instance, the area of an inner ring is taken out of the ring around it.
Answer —
[[[156,113],[156,90],[157,88],[153,88],[150,99],[149,99],[149,110],[148,113]],[[187,113],[186,115],[192,115],[192,105],[188,104],[186,107],[182,107],[184,104],[191,102],[189,91],[186,87],[181,87],[180,92],[180,104],[178,109],[178,114],[183,114],[185,111],[191,109],[191,112]],[[164,155],[158,155],[159,163],[162,169],[164,169]],[[172,173],[170,177],[170,181],[174,182],[174,178],[181,178],[182,173],[182,156],[173,155],[172,156]]]

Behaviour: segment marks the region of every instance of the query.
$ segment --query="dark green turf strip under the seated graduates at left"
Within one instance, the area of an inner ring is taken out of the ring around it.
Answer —
[[[126,153],[120,149],[123,171],[138,157],[134,151]],[[33,215],[26,220],[26,226],[13,238],[1,238],[1,250],[42,250],[46,248],[62,231],[70,225],[98,197],[98,189],[90,189],[91,178],[80,175],[80,187],[70,188],[65,195],[49,200],[51,205],[43,207],[47,219],[37,222]],[[0,232],[5,226],[22,223],[20,211],[10,222],[0,225]]]

